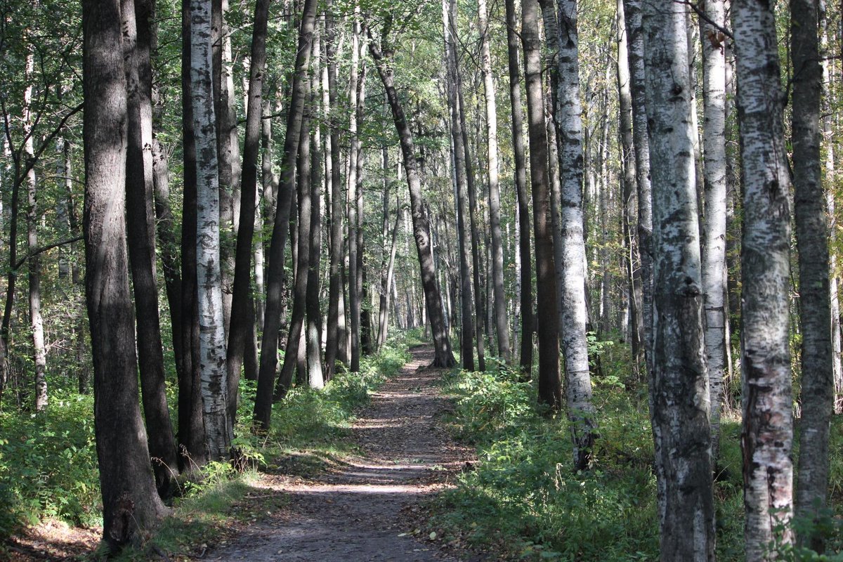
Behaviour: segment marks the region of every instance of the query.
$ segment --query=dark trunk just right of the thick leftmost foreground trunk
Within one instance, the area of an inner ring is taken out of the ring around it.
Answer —
[[[122,0],[121,10],[129,142],[126,154],[126,221],[137,313],[137,359],[155,484],[162,495],[169,495],[178,460],[167,407],[155,275],[152,65],[148,42],[153,7],[148,0]]]

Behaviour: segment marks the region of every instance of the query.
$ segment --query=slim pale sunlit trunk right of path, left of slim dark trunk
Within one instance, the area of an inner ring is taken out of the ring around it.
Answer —
[[[491,73],[489,51],[489,17],[486,0],[478,0],[477,17],[481,32],[481,70],[483,92],[486,96],[486,150],[489,164],[489,226],[491,227],[491,276],[495,293],[495,329],[497,352],[507,363],[512,361],[509,345],[509,320],[507,297],[503,292],[503,242],[501,235],[501,188],[497,160],[497,103],[495,81]]]

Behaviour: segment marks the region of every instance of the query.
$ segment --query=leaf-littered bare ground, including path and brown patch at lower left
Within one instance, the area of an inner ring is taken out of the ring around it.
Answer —
[[[348,439],[352,456],[327,469],[302,469],[295,458],[250,482],[231,525],[174,559],[308,562],[480,562],[459,543],[445,543],[425,500],[473,466],[473,450],[443,424],[453,411],[432,346],[412,359],[358,413]],[[291,465],[291,466],[288,466]],[[323,467],[325,468],[325,467]],[[88,559],[96,529],[41,524],[12,545],[15,562]],[[81,533],[81,534],[80,534]],[[160,550],[147,550],[155,559]],[[0,558],[2,558],[0,553]],[[168,558],[169,559],[169,558]]]

